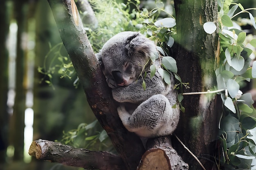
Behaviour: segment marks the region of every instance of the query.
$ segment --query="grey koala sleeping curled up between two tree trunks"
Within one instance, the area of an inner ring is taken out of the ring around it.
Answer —
[[[121,121],[128,131],[146,138],[173,133],[180,115],[179,108],[172,107],[177,102],[173,84],[164,83],[158,72],[150,78],[150,64],[146,63],[156,50],[148,38],[128,31],[109,39],[96,54],[113,98],[120,102],[117,112]],[[144,65],[146,90],[140,76]]]

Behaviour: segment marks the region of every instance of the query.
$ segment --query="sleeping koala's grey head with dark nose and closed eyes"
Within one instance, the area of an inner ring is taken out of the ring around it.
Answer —
[[[155,51],[154,43],[138,32],[122,32],[109,39],[97,54],[108,86],[115,89],[136,81]]]

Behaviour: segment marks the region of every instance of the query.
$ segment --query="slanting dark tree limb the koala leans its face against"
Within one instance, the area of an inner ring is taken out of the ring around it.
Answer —
[[[72,9],[71,0],[48,2],[92,111],[108,133],[126,168],[135,170],[145,149],[139,137],[128,132],[119,119],[117,105],[88,41],[76,6],[73,5]]]

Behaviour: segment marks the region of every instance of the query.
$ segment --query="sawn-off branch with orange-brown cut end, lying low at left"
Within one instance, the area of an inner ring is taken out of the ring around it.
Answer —
[[[35,156],[36,159],[50,160],[52,162],[85,169],[125,169],[121,157],[111,153],[73,148],[58,142],[42,139],[32,142],[29,148],[29,155]]]

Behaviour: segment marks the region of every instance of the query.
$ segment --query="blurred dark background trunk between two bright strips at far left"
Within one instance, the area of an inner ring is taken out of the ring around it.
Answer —
[[[17,32],[17,51],[16,51],[16,82],[15,82],[15,100],[13,106],[13,115],[10,120],[10,143],[13,144],[14,160],[23,160],[24,150],[24,114],[25,114],[25,87],[24,70],[25,57],[22,48],[22,35],[25,32],[25,2],[15,1],[15,18],[18,25]]]

